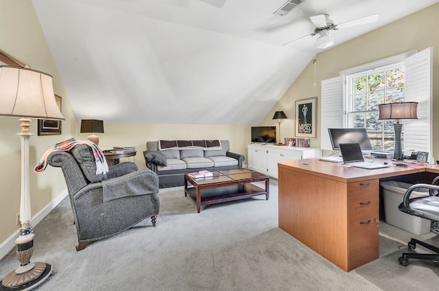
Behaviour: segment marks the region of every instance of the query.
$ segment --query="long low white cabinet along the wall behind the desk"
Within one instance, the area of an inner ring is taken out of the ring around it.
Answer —
[[[264,175],[277,179],[277,164],[288,160],[300,160],[307,157],[321,157],[321,149],[285,147],[271,144],[248,144],[247,167]]]

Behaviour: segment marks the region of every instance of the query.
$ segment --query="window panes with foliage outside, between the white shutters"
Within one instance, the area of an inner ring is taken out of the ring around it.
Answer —
[[[393,151],[393,121],[378,119],[378,105],[404,101],[404,68],[403,62],[399,62],[346,76],[348,127],[364,127],[373,149]]]

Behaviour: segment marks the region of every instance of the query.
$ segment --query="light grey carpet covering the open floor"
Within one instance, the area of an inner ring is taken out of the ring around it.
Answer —
[[[381,290],[279,229],[277,191],[271,180],[268,201],[261,196],[208,205],[198,214],[182,187],[163,189],[156,227],[147,219],[80,252],[64,199],[34,229],[32,260],[54,268],[38,291]],[[12,252],[3,258],[0,277],[17,263]]]

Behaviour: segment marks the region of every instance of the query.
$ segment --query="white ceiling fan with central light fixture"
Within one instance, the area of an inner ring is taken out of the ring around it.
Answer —
[[[283,45],[288,45],[288,44],[295,42],[296,40],[300,40],[302,38],[307,38],[309,36],[318,35],[318,38],[316,40],[316,48],[317,49],[327,49],[328,47],[331,47],[334,45],[334,38],[333,38],[333,36],[331,36],[331,34],[329,34],[329,31],[375,22],[378,20],[378,14],[364,16],[361,18],[353,19],[351,21],[346,21],[344,23],[339,23],[339,24],[334,24],[334,21],[329,19],[328,14],[314,15],[314,16],[309,17],[309,19],[311,19],[311,21],[314,23],[314,25],[316,25],[314,32],[312,34],[307,34],[306,36],[302,36],[300,38],[296,38],[295,40],[291,40],[289,42],[286,42]]]

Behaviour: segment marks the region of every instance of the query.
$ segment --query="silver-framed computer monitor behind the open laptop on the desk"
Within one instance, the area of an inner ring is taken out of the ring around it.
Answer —
[[[340,151],[340,143],[358,142],[362,150],[372,149],[365,128],[329,128],[333,150]]]

